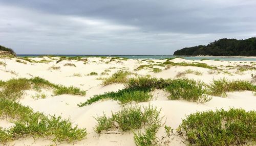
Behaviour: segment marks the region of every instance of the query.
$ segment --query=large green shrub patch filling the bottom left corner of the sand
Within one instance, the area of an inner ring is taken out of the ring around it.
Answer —
[[[60,116],[45,116],[39,112],[33,112],[16,102],[0,98],[0,117],[11,118],[13,127],[2,129],[0,127],[0,142],[17,140],[25,136],[51,137],[56,142],[72,142],[86,137],[86,129],[78,129],[72,126],[69,119],[61,119]]]

